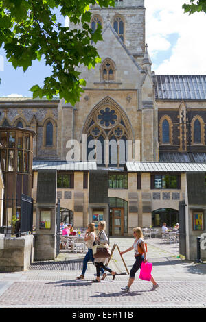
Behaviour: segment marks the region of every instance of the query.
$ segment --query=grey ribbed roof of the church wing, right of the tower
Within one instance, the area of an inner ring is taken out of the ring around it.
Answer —
[[[156,99],[206,100],[206,75],[156,75]]]

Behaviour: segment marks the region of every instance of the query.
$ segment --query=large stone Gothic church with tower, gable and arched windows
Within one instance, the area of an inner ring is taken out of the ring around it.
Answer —
[[[206,162],[206,76],[153,71],[144,0],[95,5],[91,13],[91,29],[102,26],[104,41],[95,45],[102,62],[80,66],[87,81],[80,101],[1,97],[0,126],[36,132],[34,203],[38,169],[56,169],[65,223],[104,219],[112,236],[129,236],[137,225],[173,227],[185,173]],[[79,160],[67,162],[75,143]],[[2,156],[9,171],[12,156]]]

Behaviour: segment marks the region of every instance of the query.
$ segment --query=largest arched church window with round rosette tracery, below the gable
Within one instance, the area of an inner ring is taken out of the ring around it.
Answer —
[[[87,160],[98,166],[124,166],[131,129],[124,113],[110,101],[89,116],[83,132],[87,134]]]

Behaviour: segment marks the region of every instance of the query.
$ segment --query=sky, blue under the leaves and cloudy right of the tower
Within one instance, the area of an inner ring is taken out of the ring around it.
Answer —
[[[152,59],[152,70],[157,74],[206,74],[206,15],[188,16],[181,6],[188,0],[145,0],[146,42]],[[65,23],[58,15],[58,21]],[[43,86],[50,67],[43,60],[34,61],[23,73],[12,67],[0,49],[0,96],[29,96],[29,89]]]

